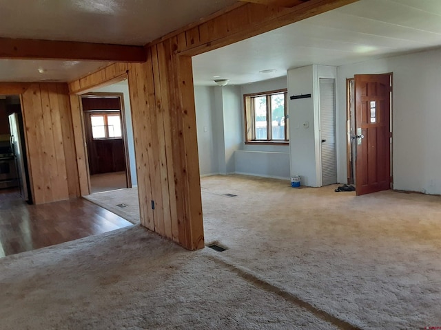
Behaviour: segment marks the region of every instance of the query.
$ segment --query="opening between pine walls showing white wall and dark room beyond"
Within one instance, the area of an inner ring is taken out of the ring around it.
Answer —
[[[96,87],[80,98],[90,182],[90,195],[83,197],[127,221],[140,223],[127,80]]]

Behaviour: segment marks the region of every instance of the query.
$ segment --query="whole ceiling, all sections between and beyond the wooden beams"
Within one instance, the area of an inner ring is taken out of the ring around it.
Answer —
[[[0,37],[144,45],[236,0],[0,0]],[[310,64],[441,46],[441,0],[360,0],[194,58],[196,85],[240,85]],[[0,61],[0,81],[70,81],[103,62]],[[38,69],[45,72],[40,74]],[[260,74],[276,69],[273,74]]]

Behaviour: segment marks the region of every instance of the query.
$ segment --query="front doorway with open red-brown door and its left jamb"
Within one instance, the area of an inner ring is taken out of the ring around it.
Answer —
[[[346,80],[347,182],[371,192],[393,188],[392,82],[392,73]]]

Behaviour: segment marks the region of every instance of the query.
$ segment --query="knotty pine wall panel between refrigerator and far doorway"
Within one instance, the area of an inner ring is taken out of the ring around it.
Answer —
[[[33,83],[21,95],[34,203],[78,196],[68,85]]]

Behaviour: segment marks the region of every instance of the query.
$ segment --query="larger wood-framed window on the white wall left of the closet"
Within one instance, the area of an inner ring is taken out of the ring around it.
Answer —
[[[287,90],[245,94],[245,142],[286,143]]]

